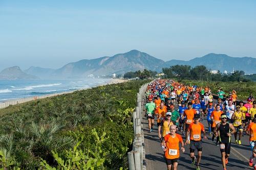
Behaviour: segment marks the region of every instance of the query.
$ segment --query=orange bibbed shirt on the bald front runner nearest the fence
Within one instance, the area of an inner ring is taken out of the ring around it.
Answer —
[[[182,142],[182,137],[179,134],[175,134],[175,137],[170,134],[164,136],[165,146],[167,151],[165,152],[165,158],[176,159],[180,157],[179,142]]]

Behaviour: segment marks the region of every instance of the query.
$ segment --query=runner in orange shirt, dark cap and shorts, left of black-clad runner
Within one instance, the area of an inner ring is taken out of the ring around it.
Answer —
[[[195,156],[195,150],[197,149],[198,151],[198,158],[197,158],[197,164],[196,164],[196,169],[200,170],[199,168],[199,163],[202,157],[202,145],[203,142],[201,140],[201,131],[204,134],[204,139],[207,139],[205,131],[204,131],[204,126],[203,124],[199,123],[200,120],[200,114],[195,114],[194,117],[195,122],[191,123],[188,127],[188,130],[186,132],[186,144],[189,143],[188,141],[188,134],[190,132],[190,157],[192,158],[192,164],[195,164],[196,162],[196,156]]]

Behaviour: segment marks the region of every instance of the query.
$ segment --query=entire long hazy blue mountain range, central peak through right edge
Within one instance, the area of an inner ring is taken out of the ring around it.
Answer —
[[[256,73],[256,59],[251,57],[230,57],[225,54],[210,53],[203,57],[194,58],[189,61],[170,60],[164,62],[151,55],[132,50],[112,57],[101,57],[91,60],[80,60],[68,63],[59,69],[30,67],[25,72],[42,79],[71,79],[86,78],[89,75],[102,76],[112,74],[124,74],[128,71],[151,69],[161,72],[163,67],[172,65],[205,65],[211,70],[243,70],[246,74]],[[26,76],[25,76],[26,77]]]

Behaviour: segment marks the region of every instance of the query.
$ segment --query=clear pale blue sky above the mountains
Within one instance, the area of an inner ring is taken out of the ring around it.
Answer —
[[[164,61],[256,58],[256,1],[0,0],[0,71],[139,50]]]

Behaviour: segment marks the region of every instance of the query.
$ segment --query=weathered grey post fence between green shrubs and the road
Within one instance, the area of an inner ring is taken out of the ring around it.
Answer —
[[[150,82],[151,83],[151,82]],[[144,134],[142,124],[142,114],[144,105],[144,94],[147,89],[146,83],[142,85],[137,93],[137,106],[135,112],[133,112],[133,129],[134,129],[134,140],[133,150],[128,153],[128,162],[130,170],[145,170],[145,149],[144,149]]]

